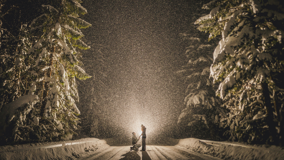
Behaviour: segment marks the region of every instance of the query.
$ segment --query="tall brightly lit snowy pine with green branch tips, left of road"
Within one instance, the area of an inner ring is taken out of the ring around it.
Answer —
[[[80,1],[79,1],[80,2]],[[36,54],[32,74],[34,92],[41,102],[37,108],[40,129],[36,136],[45,140],[62,140],[77,129],[80,114],[75,102],[79,101],[75,77],[89,78],[80,67],[79,49],[88,49],[80,38],[81,28],[91,24],[78,18],[87,13],[76,0],[47,1],[44,11],[31,23],[31,30],[39,32],[40,39],[30,50]],[[46,133],[43,134],[42,130]]]

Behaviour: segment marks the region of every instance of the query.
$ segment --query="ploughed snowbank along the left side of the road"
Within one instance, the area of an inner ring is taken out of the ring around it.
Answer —
[[[82,138],[80,140],[0,146],[0,159],[77,159],[91,152],[109,147],[105,140]],[[90,142],[88,142],[90,141]],[[81,144],[79,144],[81,142]],[[82,143],[87,142],[87,143]],[[63,144],[62,146],[60,146]],[[67,145],[65,145],[67,144]],[[71,145],[76,144],[76,145]],[[53,148],[39,148],[58,145]]]

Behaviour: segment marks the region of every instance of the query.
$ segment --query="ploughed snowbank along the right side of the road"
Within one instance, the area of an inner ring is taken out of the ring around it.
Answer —
[[[242,144],[244,145],[244,144]],[[180,139],[176,145],[186,149],[192,149],[201,154],[212,155],[222,159],[263,159],[263,160],[282,160],[284,157],[284,148],[270,145],[257,145],[247,147],[220,145],[213,146],[206,144],[196,138]],[[251,148],[252,147],[252,148]]]

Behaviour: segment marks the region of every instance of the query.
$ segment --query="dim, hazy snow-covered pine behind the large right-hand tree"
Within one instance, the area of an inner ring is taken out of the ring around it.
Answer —
[[[199,8],[196,3],[193,8]],[[226,113],[221,109],[218,98],[215,96],[216,86],[209,79],[210,65],[213,62],[212,52],[214,42],[209,43],[202,32],[196,32],[193,22],[195,17],[201,16],[204,11],[191,10],[192,23],[189,24],[188,34],[181,34],[186,48],[186,65],[179,73],[187,86],[185,91],[185,109],[178,119],[178,126],[183,137],[196,137],[215,140],[218,139],[219,119]]]

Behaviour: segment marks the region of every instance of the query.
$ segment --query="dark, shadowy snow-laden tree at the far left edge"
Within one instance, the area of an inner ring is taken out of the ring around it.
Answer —
[[[32,56],[27,54],[31,48],[27,25],[20,21],[22,8],[11,1],[1,1],[0,6],[0,137],[1,144],[6,144],[18,138],[18,127],[29,123],[26,115],[38,97],[26,95],[30,86],[28,69]]]

